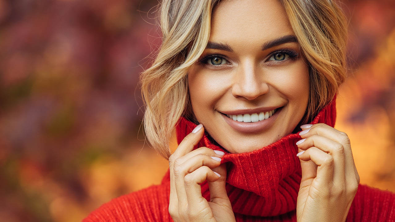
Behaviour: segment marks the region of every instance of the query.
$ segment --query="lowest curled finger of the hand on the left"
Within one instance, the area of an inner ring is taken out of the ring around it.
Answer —
[[[198,205],[201,204],[201,201],[206,200],[201,195],[200,183],[204,182],[205,180],[207,180],[207,182],[214,182],[220,178],[218,175],[214,173],[214,171],[209,167],[201,166],[184,177],[188,208],[197,209]]]

